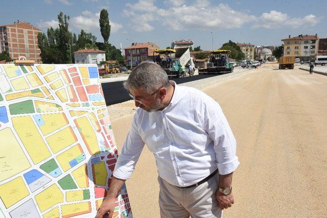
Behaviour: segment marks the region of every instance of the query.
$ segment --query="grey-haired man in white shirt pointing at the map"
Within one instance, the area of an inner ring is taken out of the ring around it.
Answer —
[[[139,107],[97,218],[112,216],[114,201],[147,144],[158,168],[161,217],[221,217],[234,203],[236,140],[217,102],[177,86],[153,62],[142,62],[124,84]]]

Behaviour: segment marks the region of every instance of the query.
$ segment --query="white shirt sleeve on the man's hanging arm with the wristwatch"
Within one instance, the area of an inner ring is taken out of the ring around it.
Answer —
[[[236,156],[236,139],[221,107],[212,99],[204,107],[204,126],[214,141],[219,174],[232,173],[240,164]]]

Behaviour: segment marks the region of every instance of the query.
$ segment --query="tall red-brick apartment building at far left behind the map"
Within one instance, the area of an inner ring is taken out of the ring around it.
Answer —
[[[28,22],[17,21],[0,26],[0,52],[7,51],[12,59],[21,56],[41,63],[41,50],[37,45],[37,34],[41,31]]]

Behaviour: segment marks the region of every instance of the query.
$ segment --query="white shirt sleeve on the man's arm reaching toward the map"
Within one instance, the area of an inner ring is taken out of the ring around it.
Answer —
[[[122,152],[118,157],[113,171],[114,177],[126,180],[132,176],[135,164],[139,155],[141,155],[144,144],[137,130],[137,113],[135,113]]]

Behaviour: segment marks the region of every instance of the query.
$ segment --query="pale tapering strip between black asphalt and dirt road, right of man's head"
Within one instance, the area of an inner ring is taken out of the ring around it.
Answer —
[[[205,79],[201,79],[201,80],[196,80],[196,81],[191,81],[191,82],[187,82],[187,83],[181,83],[181,86],[189,86],[189,87],[193,87],[193,88],[197,88],[197,89],[202,89],[208,86],[212,86],[215,85],[217,82],[223,82],[226,81],[228,79],[232,79],[234,77],[246,74],[247,72],[251,72],[255,69],[249,69],[249,70],[245,70],[245,71],[241,71],[241,72],[231,72],[229,74],[223,74],[223,75],[219,75],[216,77],[209,77],[209,78],[205,78]]]

